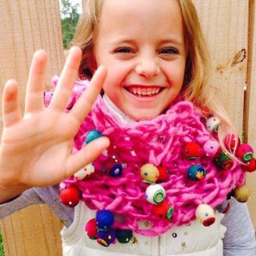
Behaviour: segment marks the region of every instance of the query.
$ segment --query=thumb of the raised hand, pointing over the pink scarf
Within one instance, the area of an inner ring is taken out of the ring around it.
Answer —
[[[72,154],[68,158],[66,177],[70,177],[89,163],[92,163],[109,146],[107,137],[100,137]]]

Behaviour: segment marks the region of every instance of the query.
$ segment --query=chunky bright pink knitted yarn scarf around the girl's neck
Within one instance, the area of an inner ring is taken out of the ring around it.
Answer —
[[[58,77],[54,77],[53,84],[57,82]],[[88,85],[89,81],[75,82],[69,107]],[[61,188],[63,183],[75,185],[82,191],[82,199],[90,209],[109,210],[119,215],[122,221],[115,220],[114,227],[132,229],[147,236],[163,234],[174,226],[194,220],[199,204],[215,207],[224,202],[227,194],[244,182],[244,171],[237,162],[230,170],[222,170],[206,155],[194,161],[182,157],[186,142],[196,142],[203,148],[206,141],[215,140],[203,124],[199,111],[189,101],[177,98],[165,114],[151,121],[126,125],[111,116],[99,95],[74,139],[74,154],[84,146],[86,132],[92,129],[99,130],[110,139],[107,156],[102,154],[95,160],[92,178],[82,181],[70,177],[62,182]],[[112,156],[124,167],[118,178],[102,173]],[[165,200],[174,207],[170,220],[159,220],[151,213],[153,205],[145,198],[149,185],[141,181],[139,172],[146,163],[162,164],[170,172],[169,179],[161,183],[166,191]],[[207,174],[204,179],[188,179],[187,170],[193,164],[205,168]],[[153,224],[151,229],[139,229],[138,221],[141,220],[150,221]]]

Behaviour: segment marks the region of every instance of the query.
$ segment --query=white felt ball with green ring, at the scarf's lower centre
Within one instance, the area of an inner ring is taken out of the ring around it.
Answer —
[[[159,204],[164,201],[165,190],[159,184],[151,184],[146,189],[145,197],[151,204]]]

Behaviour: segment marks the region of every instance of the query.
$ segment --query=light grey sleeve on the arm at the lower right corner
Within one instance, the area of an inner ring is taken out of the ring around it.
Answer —
[[[221,223],[227,227],[223,238],[224,256],[255,256],[255,230],[246,203],[230,200],[230,209]]]

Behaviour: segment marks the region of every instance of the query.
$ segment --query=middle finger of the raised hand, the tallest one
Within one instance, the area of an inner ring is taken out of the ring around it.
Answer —
[[[65,110],[73,89],[77,70],[81,62],[82,51],[78,46],[71,47],[65,62],[60,79],[54,91],[50,108]]]

